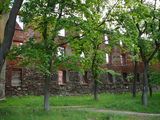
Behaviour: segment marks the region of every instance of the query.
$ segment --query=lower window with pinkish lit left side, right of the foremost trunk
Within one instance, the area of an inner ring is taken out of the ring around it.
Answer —
[[[66,71],[58,71],[58,84],[63,85],[66,83]]]

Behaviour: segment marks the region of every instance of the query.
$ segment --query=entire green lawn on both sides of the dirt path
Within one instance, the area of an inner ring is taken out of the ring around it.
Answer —
[[[138,117],[78,111],[54,106],[85,106],[111,110],[160,113],[160,93],[149,97],[147,107],[141,105],[141,96],[132,98],[130,93],[99,95],[94,101],[91,95],[52,96],[51,111],[43,111],[43,96],[9,97],[0,101],[0,120],[160,120],[158,117]]]

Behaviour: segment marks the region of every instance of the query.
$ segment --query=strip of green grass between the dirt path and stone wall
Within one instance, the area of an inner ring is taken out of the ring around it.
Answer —
[[[124,110],[147,113],[160,113],[160,93],[154,93],[153,97],[148,97],[148,106],[141,105],[141,96],[132,98],[131,94],[110,94],[99,95],[99,100],[94,101],[91,95],[83,96],[52,96],[51,106],[87,106],[112,110]],[[43,106],[43,96],[22,96],[9,97],[0,102],[0,107],[40,107]]]

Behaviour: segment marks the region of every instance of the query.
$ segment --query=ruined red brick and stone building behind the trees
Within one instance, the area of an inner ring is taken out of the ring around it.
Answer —
[[[40,35],[31,28],[28,28],[28,30],[24,32],[20,26],[16,24],[15,29],[13,45],[22,45],[29,37],[40,37]],[[58,39],[61,38],[63,38],[63,35]],[[104,39],[107,38],[104,36]],[[104,47],[106,47],[107,44],[109,44],[109,42],[106,42]],[[59,47],[58,49],[65,54],[71,54],[71,49],[67,45]],[[44,85],[43,76],[35,70],[17,66],[16,63],[18,59],[20,58],[7,62],[6,95],[41,95]],[[134,64],[130,59],[130,54],[124,53],[123,50],[121,50],[121,43],[112,48],[110,54],[106,54],[106,64],[104,64],[103,67],[119,72],[121,76],[112,76],[109,73],[102,75],[100,79],[103,84],[99,84],[99,92],[124,92],[131,89],[132,84],[127,80],[127,75],[133,73]],[[138,68],[137,84],[140,83],[143,77],[143,65],[138,63]],[[90,93],[91,91],[92,81],[90,72],[86,71],[84,75],[81,75],[74,71],[61,69],[56,74],[52,74],[50,84],[51,94],[68,95]]]

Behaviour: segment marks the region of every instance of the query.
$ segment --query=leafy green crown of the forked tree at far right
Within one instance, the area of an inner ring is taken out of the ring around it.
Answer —
[[[154,4],[154,2],[152,2]],[[159,43],[159,8],[141,1],[119,2],[110,17],[110,23],[114,24],[114,38],[122,40],[126,49],[133,56],[133,60],[139,60],[139,54],[149,59],[155,49],[155,43]],[[155,17],[156,16],[156,17]]]

